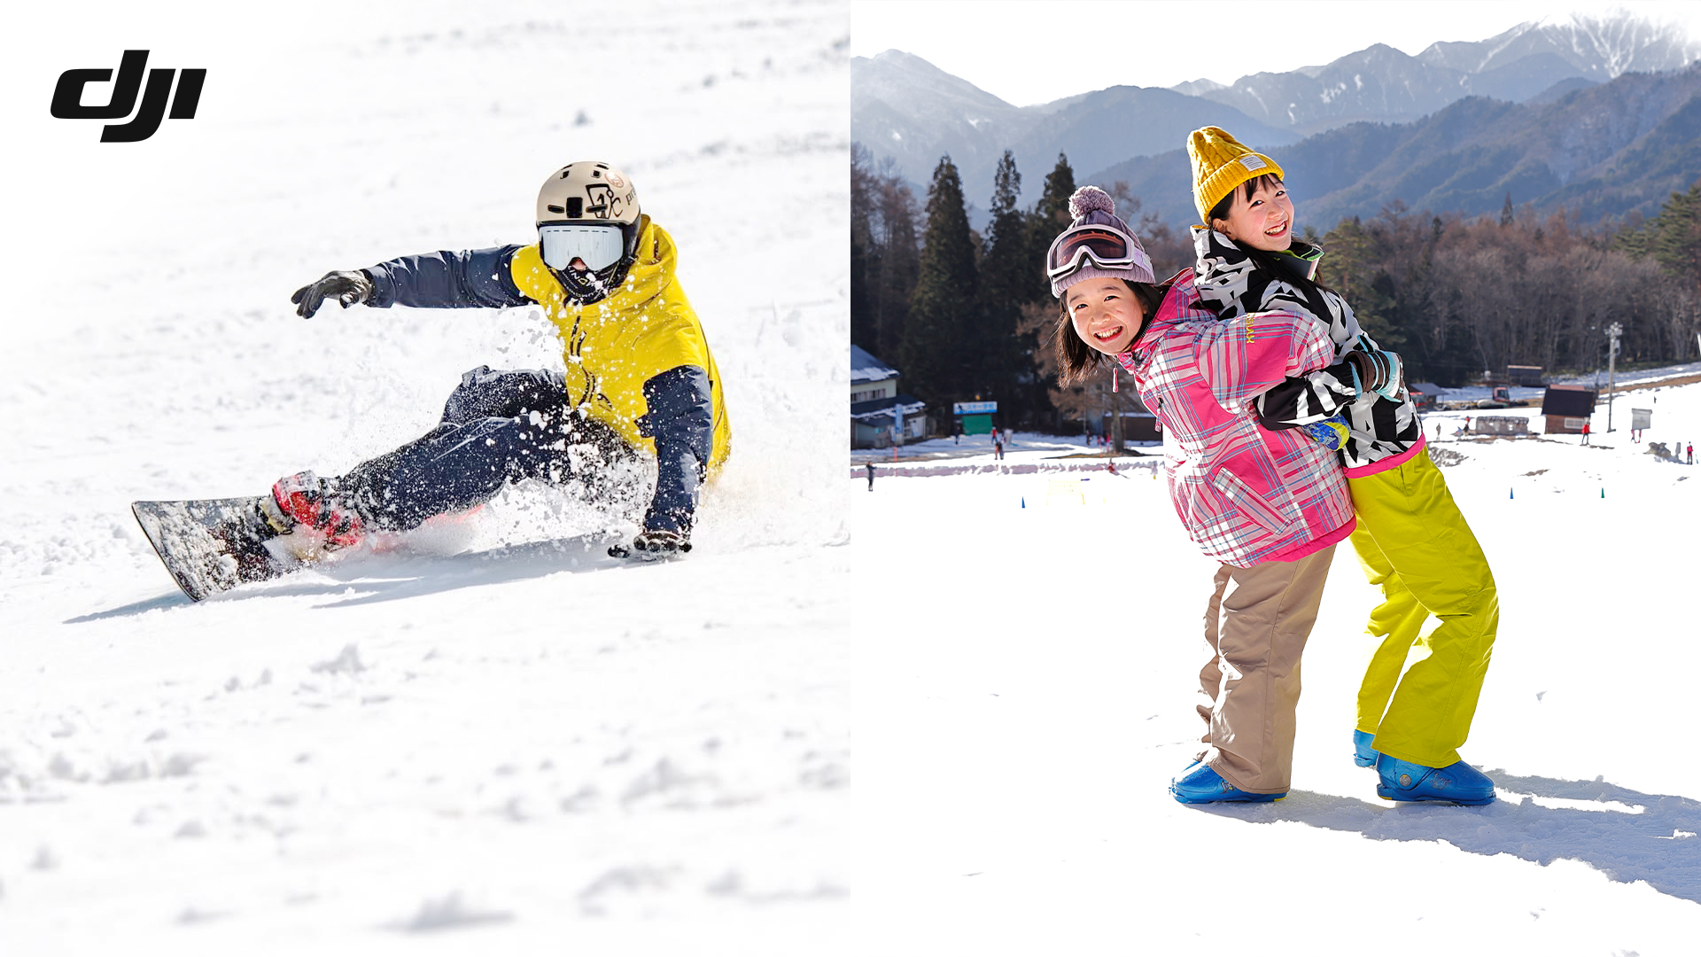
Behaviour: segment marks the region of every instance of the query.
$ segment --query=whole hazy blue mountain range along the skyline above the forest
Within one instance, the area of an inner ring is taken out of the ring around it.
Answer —
[[[1686,187],[1701,172],[1691,160],[1701,136],[1686,133],[1696,126],[1687,99],[1696,61],[1701,43],[1677,27],[1573,17],[1436,43],[1417,56],[1376,44],[1232,85],[1109,87],[1015,107],[888,49],[852,60],[850,131],[920,196],[939,157],[951,155],[975,204],[990,196],[1005,148],[1027,201],[1063,152],[1077,182],[1124,179],[1146,211],[1180,225],[1198,215],[1177,146],[1191,129],[1216,124],[1277,160],[1293,157],[1289,184],[1310,198],[1303,221],[1318,228],[1393,198],[1436,211],[1497,211],[1507,191],[1516,203],[1563,204],[1597,220],[1647,213],[1667,184]],[[981,218],[971,209],[971,221]]]

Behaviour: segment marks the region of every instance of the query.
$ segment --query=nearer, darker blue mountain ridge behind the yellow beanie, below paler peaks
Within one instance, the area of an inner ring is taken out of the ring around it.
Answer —
[[[1507,196],[1580,223],[1653,216],[1701,177],[1701,63],[1624,73],[1546,102],[1466,97],[1415,123],[1352,123],[1266,152],[1286,172],[1296,223],[1317,232],[1397,199],[1468,216],[1499,213]],[[1075,175],[1077,184],[1116,181],[1163,223],[1199,218],[1184,148]]]

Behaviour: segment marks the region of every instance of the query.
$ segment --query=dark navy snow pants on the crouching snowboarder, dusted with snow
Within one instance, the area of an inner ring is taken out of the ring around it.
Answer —
[[[580,460],[634,455],[614,429],[568,407],[561,373],[478,366],[461,376],[435,429],[356,465],[340,490],[374,526],[407,531],[480,506],[507,482],[573,478],[573,446]]]

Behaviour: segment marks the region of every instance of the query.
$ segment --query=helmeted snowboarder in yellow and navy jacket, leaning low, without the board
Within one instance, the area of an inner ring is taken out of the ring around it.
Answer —
[[[405,255],[296,289],[303,318],[325,300],[539,305],[561,334],[565,370],[468,371],[422,438],[340,477],[279,478],[264,502],[274,528],[308,526],[323,548],[344,548],[371,530],[471,509],[522,478],[573,478],[609,499],[611,467],[653,453],[657,484],[631,552],[691,550],[701,485],[726,461],[731,429],[703,325],[674,276],[674,240],[641,213],[631,179],[602,162],[553,172],[536,213],[531,245]]]

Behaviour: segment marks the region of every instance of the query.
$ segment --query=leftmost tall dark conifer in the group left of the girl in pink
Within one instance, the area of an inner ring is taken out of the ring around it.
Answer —
[[[973,398],[978,301],[963,179],[947,155],[927,187],[920,271],[898,349],[903,378],[922,398],[937,405]]]

